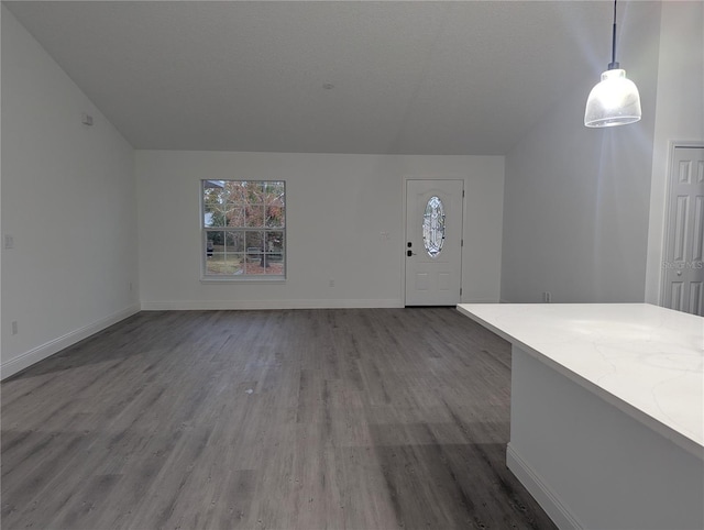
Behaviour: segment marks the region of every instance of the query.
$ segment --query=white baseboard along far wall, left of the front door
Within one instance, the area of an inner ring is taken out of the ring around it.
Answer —
[[[176,300],[143,301],[143,311],[235,310],[235,309],[353,309],[402,308],[403,300]]]

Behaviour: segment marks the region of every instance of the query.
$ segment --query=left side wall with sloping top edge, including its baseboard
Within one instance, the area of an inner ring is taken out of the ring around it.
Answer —
[[[7,377],[136,311],[139,286],[134,152],[4,7],[1,126]]]

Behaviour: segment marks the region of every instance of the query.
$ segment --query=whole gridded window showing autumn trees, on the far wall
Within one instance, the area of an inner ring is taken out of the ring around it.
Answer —
[[[286,184],[202,180],[204,277],[286,275]]]

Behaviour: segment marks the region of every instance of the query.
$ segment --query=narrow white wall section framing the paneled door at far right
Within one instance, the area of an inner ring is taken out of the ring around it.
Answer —
[[[661,302],[671,142],[704,145],[704,2],[668,1],[660,25],[646,301]]]

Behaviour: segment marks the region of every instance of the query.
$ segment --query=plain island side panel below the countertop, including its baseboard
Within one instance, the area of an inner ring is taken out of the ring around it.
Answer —
[[[560,528],[704,528],[701,457],[515,345],[507,465]]]

